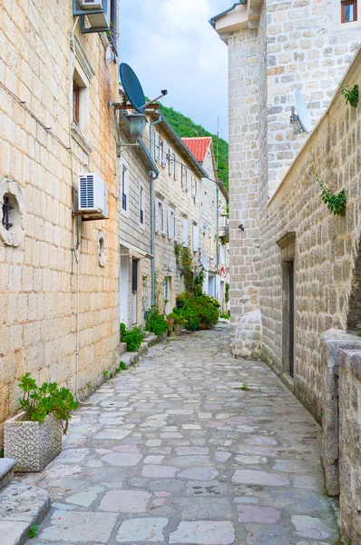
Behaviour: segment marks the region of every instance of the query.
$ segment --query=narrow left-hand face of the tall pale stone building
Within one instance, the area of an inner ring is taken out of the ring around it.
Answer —
[[[259,355],[259,342],[252,333],[259,327],[257,46],[255,30],[229,35],[229,296],[231,352],[239,357]],[[249,312],[250,319],[245,317]],[[239,322],[240,318],[244,320]],[[249,333],[243,342],[244,323]]]

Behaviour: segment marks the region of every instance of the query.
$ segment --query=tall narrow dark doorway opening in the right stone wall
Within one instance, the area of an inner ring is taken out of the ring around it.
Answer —
[[[295,261],[282,263],[282,362],[283,372],[295,372]]]

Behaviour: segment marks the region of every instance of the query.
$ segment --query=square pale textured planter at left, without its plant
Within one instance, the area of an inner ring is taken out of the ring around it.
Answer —
[[[42,471],[62,451],[62,421],[49,414],[44,422],[24,421],[24,412],[5,421],[4,454],[16,460],[15,471]]]

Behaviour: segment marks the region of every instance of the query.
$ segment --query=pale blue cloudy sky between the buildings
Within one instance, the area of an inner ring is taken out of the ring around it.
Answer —
[[[122,0],[120,61],[130,64],[155,98],[161,89],[171,106],[228,139],[227,45],[210,26],[210,17],[233,0]]]

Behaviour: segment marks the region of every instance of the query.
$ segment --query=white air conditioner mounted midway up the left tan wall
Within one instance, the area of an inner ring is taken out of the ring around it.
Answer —
[[[79,175],[78,212],[94,220],[108,217],[106,183],[95,173]]]

